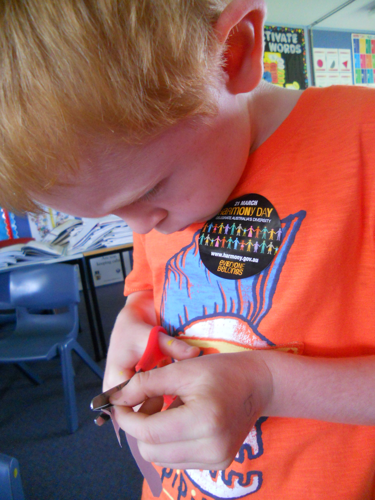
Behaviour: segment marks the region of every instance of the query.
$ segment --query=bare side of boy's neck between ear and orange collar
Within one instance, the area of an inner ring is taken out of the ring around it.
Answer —
[[[301,94],[302,90],[278,87],[264,80],[248,94],[247,104],[253,138],[250,153],[281,125]]]

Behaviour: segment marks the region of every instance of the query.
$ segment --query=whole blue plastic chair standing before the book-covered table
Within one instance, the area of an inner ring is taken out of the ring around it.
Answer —
[[[79,291],[74,266],[38,264],[0,274],[0,301],[16,309],[15,329],[0,340],[0,362],[24,363],[60,356],[69,432],[78,428],[71,351],[103,378],[103,370],[78,344]],[[8,293],[8,296],[6,295]],[[52,309],[53,314],[40,314]]]

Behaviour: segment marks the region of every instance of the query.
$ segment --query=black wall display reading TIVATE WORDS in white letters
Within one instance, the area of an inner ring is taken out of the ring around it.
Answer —
[[[302,28],[264,26],[263,79],[286,88],[307,88]]]

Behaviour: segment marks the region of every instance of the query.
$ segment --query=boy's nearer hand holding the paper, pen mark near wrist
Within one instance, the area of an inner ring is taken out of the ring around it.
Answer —
[[[209,354],[138,373],[110,398],[116,419],[148,461],[225,469],[272,396],[271,373],[257,354]],[[160,412],[161,394],[178,395],[183,404]]]

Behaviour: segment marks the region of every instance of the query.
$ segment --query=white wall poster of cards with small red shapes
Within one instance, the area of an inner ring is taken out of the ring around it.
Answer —
[[[313,48],[315,86],[352,85],[351,50]]]

